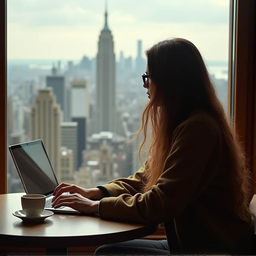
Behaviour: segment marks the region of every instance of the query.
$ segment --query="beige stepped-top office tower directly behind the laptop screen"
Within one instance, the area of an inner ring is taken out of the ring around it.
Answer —
[[[52,88],[39,90],[35,104],[31,107],[30,140],[41,139],[57,179],[59,172],[61,149],[61,110],[56,103]]]

